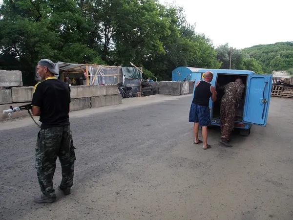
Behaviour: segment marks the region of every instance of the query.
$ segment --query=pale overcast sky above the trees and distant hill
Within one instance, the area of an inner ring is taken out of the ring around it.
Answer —
[[[237,49],[293,41],[293,0],[159,0],[184,7],[195,32]],[[269,3],[270,2],[270,3]]]

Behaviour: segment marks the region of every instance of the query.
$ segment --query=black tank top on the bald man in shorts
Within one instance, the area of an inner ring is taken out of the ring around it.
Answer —
[[[210,83],[201,80],[197,87],[195,87],[192,102],[196,105],[209,107],[209,98],[212,94],[210,91],[210,87]]]

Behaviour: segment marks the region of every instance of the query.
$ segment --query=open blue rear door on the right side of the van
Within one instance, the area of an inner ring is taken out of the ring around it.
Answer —
[[[249,75],[243,121],[266,126],[272,90],[272,75]]]

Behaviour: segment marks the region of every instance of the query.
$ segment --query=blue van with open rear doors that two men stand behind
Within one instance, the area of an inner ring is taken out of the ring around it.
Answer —
[[[194,69],[195,70],[195,69]],[[266,126],[271,100],[272,90],[272,75],[257,75],[249,70],[232,70],[232,69],[199,69],[192,73],[189,78],[195,80],[204,79],[206,71],[213,72],[213,80],[211,84],[216,88],[216,85],[226,85],[235,81],[236,78],[241,78],[245,89],[242,95],[241,103],[236,112],[235,128],[240,129],[240,134],[248,136],[251,132],[252,125]],[[193,95],[195,90],[193,88]],[[217,90],[217,88],[216,88]],[[224,95],[224,91],[217,90],[217,100],[212,102],[209,100],[209,110],[211,125],[220,126],[220,103]]]

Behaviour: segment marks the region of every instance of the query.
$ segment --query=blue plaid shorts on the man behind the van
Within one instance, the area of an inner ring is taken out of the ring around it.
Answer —
[[[200,126],[210,125],[209,107],[191,103],[189,110],[189,122],[199,123]]]

